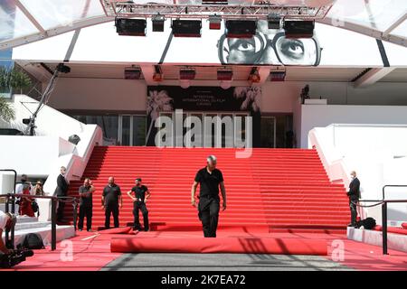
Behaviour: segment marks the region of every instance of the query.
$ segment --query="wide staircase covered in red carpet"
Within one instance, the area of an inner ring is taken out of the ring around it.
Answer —
[[[126,192],[141,177],[152,193],[147,202],[152,229],[200,228],[190,204],[191,185],[206,156],[215,154],[228,196],[228,209],[220,217],[222,228],[345,231],[349,220],[345,188],[329,182],[317,151],[253,149],[246,159],[235,153],[229,148],[96,147],[83,174],[96,187],[93,228],[104,224],[100,194],[109,176],[123,192],[120,226],[133,220]],[[70,195],[78,195],[80,184],[71,182]],[[66,206],[66,216],[71,218],[71,206]]]

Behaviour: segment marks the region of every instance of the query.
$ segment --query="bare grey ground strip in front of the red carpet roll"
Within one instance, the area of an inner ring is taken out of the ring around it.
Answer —
[[[344,271],[323,256],[262,254],[123,254],[102,271]]]

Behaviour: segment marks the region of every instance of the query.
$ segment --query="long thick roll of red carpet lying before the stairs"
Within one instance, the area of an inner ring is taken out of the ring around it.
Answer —
[[[113,238],[115,253],[245,253],[327,255],[326,240],[301,238]]]

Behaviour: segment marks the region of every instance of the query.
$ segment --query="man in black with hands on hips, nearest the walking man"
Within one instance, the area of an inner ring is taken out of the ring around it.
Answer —
[[[148,231],[148,210],[146,201],[150,198],[150,191],[148,188],[141,184],[141,179],[136,179],[136,186],[131,191],[128,191],[128,196],[133,200],[133,215],[134,215],[134,229],[141,230],[140,220],[138,219],[138,210],[141,210],[144,220],[144,230]],[[134,193],[134,196],[132,195]]]

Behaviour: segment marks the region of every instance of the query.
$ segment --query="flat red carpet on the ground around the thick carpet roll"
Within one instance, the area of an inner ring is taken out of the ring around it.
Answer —
[[[343,260],[341,264],[354,268],[356,270],[407,270],[407,253],[389,250],[388,256],[382,255],[382,248],[367,245],[351,240],[347,240],[343,234],[321,234],[321,233],[232,233],[219,231],[220,238],[279,238],[279,239],[307,239],[307,240],[325,240],[328,255],[327,259],[332,260],[331,252],[333,250],[332,242],[342,241],[344,244]],[[140,232],[137,238],[189,238],[194,241],[195,238],[201,239],[201,232]],[[134,238],[134,235],[111,235],[99,233],[79,232],[75,238],[71,238],[72,256],[71,260],[63,260],[66,256],[64,251],[66,245],[58,243],[56,251],[35,250],[35,255],[30,257],[24,263],[15,266],[15,271],[47,270],[47,271],[97,271],[103,266],[109,264],[120,253],[110,252],[110,242],[112,238]],[[336,255],[334,255],[336,256]],[[204,258],[204,255],[203,255]],[[272,269],[272,268],[270,268]],[[5,271],[5,270],[2,270]]]

